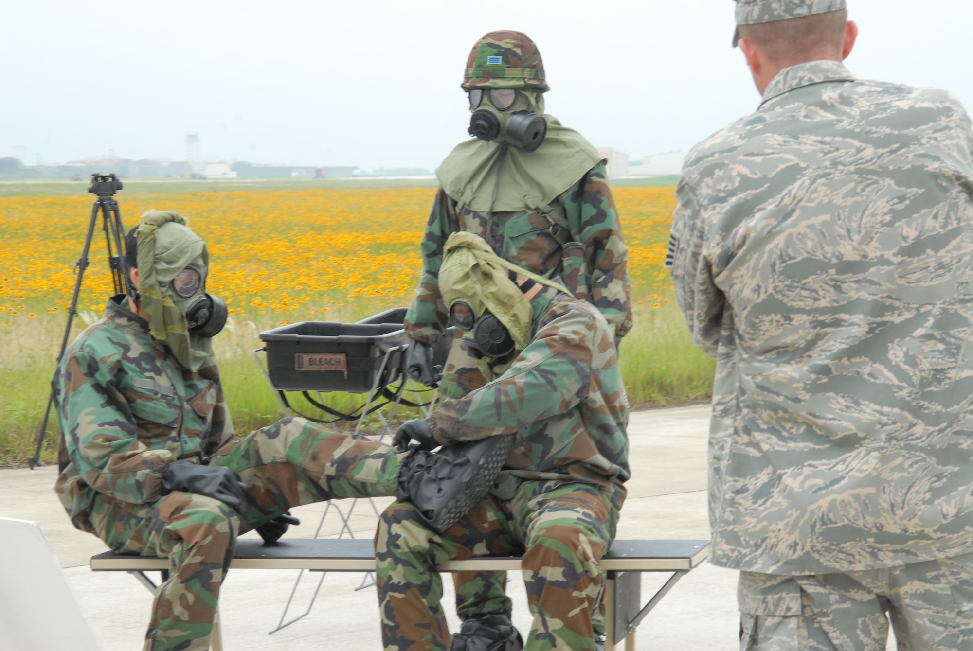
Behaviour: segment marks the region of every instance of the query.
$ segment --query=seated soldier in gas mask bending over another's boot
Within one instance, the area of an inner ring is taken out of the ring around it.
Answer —
[[[533,615],[525,648],[595,649],[599,561],[629,478],[629,407],[613,332],[591,303],[496,256],[477,235],[453,233],[444,253],[439,287],[450,323],[488,382],[408,422],[397,442],[432,449],[509,436],[512,447],[490,494],[449,530],[430,529],[418,499],[382,514],[385,649],[450,648],[436,566],[507,554],[523,554]]]

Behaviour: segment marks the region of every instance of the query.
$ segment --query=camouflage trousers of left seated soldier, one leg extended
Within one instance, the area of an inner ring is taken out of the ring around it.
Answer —
[[[192,493],[176,491],[151,504],[99,497],[90,522],[113,551],[169,559],[169,579],[156,591],[145,651],[209,648],[238,533],[292,506],[395,495],[400,461],[407,455],[378,441],[285,418],[228,443],[210,460],[238,473],[249,487],[242,518],[223,502]]]

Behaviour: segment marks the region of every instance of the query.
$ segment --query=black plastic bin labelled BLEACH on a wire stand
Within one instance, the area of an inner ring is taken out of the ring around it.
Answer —
[[[268,372],[274,389],[349,394],[368,393],[376,384],[388,350],[409,342],[402,321],[391,324],[306,321],[266,330],[260,333],[260,338],[267,345]],[[390,356],[380,385],[397,381],[401,369],[400,350]]]

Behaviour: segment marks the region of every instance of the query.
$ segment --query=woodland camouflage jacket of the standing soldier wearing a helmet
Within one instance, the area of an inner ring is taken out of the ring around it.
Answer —
[[[605,166],[598,163],[543,212],[480,213],[440,188],[422,238],[422,276],[406,315],[406,331],[432,344],[447,327],[439,290],[443,245],[450,234],[476,233],[495,250],[534,273],[560,275],[575,296],[604,315],[615,336],[631,329],[629,250],[615,212]]]

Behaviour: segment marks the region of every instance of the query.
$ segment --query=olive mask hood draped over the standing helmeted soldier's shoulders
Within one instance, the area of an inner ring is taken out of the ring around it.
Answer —
[[[529,154],[502,139],[471,138],[457,145],[436,176],[458,208],[487,213],[548,206],[602,160],[584,136],[544,114],[540,93],[518,91],[518,95],[510,112],[495,115],[501,121],[509,120],[515,111],[544,115],[548,129],[543,144]],[[485,99],[481,107],[492,111],[488,103]]]

